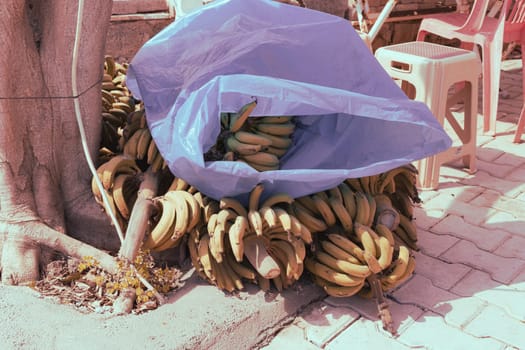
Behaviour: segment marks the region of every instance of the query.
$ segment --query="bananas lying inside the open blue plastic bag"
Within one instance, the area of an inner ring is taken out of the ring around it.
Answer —
[[[221,113],[222,131],[205,159],[240,161],[257,171],[279,169],[280,159],[292,145],[294,117],[248,118],[256,105],[253,101],[243,106],[239,113]]]

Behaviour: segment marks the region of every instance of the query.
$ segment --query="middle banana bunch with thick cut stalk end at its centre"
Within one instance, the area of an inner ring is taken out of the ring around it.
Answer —
[[[260,201],[262,191],[262,185],[252,190],[248,208],[232,197],[211,210],[206,203],[206,224],[190,234],[193,265],[221,289],[243,289],[242,279],[247,279],[265,291],[271,283],[281,291],[302,275],[311,233],[283,208],[293,198],[278,193]]]

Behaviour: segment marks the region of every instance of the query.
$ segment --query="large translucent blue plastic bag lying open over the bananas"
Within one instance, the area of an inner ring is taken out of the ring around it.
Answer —
[[[431,82],[429,82],[431,84]],[[215,199],[325,190],[450,147],[430,110],[409,100],[339,17],[265,0],[214,1],[138,51],[128,88],[173,174]],[[280,169],[205,161],[221,112],[296,116]]]

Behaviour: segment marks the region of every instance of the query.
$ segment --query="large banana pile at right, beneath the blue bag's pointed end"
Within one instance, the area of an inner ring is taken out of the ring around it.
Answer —
[[[412,275],[411,250],[418,249],[411,215],[412,202],[419,200],[416,173],[403,166],[296,199],[298,218],[320,232],[305,267],[327,294],[372,296],[372,276],[388,291]],[[402,210],[393,205],[399,198],[406,198]]]

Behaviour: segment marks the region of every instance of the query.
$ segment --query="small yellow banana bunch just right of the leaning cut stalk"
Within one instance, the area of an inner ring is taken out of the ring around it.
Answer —
[[[157,212],[151,219],[152,229],[146,233],[143,249],[163,251],[178,246],[184,235],[200,224],[200,197],[200,192],[191,194],[183,190],[170,190],[154,198]]]

